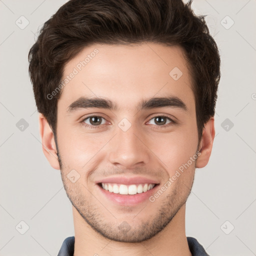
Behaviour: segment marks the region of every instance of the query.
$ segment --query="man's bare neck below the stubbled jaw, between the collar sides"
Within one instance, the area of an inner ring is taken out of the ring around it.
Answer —
[[[185,204],[167,226],[154,237],[138,243],[118,242],[96,232],[72,206],[74,221],[74,256],[191,256],[185,235]]]

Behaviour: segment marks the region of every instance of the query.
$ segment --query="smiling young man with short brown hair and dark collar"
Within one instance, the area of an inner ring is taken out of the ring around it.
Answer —
[[[70,0],[44,23],[29,74],[72,203],[59,256],[207,255],[185,203],[211,153],[219,66],[190,1]]]

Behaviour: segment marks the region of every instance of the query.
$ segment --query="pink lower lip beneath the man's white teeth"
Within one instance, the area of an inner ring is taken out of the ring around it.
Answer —
[[[136,194],[117,194],[114,192],[109,192],[108,190],[105,190],[102,188],[100,184],[97,184],[100,191],[103,193],[103,195],[108,199],[113,201],[114,203],[117,203],[119,205],[136,205],[139,203],[142,203],[146,200],[149,200],[149,197],[155,193],[155,190],[157,189],[158,185],[155,185],[152,189],[147,190],[146,192],[142,193],[136,193]]]

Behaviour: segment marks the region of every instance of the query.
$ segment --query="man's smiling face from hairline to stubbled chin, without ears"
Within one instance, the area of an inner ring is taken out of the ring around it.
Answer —
[[[198,153],[182,49],[93,44],[65,65],[66,76],[56,130],[67,196],[107,238],[153,237],[185,203]]]

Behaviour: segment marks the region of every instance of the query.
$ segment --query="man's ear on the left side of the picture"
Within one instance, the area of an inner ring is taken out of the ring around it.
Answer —
[[[58,163],[58,156],[56,150],[56,144],[54,141],[54,135],[49,126],[46,118],[42,113],[39,113],[39,129],[40,129],[40,136],[42,141],[42,151],[46,156],[50,165],[54,168],[59,170],[59,163]]]

